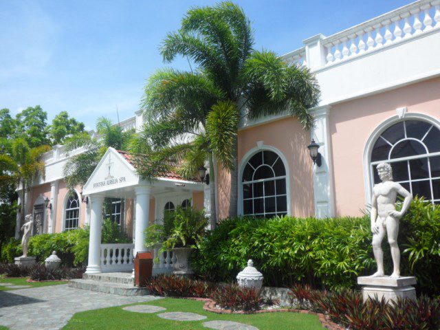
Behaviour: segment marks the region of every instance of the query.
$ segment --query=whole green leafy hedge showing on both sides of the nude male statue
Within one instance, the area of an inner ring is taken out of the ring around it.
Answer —
[[[439,294],[440,206],[415,199],[400,227],[401,274],[417,277],[418,292]],[[375,271],[370,228],[367,216],[226,219],[199,244],[192,265],[201,278],[229,282],[253,259],[268,286],[351,288]],[[382,247],[391,274],[386,239]]]

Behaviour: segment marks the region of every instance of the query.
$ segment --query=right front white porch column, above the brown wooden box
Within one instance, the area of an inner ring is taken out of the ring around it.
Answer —
[[[150,221],[150,195],[151,187],[137,187],[136,193],[136,214],[135,214],[135,250],[137,252],[146,252],[145,230]]]

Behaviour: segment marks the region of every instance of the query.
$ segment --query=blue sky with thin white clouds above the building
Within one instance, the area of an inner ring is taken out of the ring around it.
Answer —
[[[61,111],[94,129],[139,109],[146,80],[164,64],[159,45],[195,5],[178,0],[0,0],[0,109],[15,115],[40,104],[48,119]],[[303,40],[330,36],[411,1],[237,0],[252,21],[256,49],[286,54]]]

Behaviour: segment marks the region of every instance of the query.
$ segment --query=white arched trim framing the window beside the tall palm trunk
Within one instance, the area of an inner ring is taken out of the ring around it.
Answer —
[[[239,202],[237,203],[237,213],[239,215],[243,215],[243,189],[242,189],[242,180],[243,180],[243,171],[245,169],[246,164],[248,164],[248,161],[250,158],[255,155],[256,153],[259,153],[260,151],[272,151],[280,157],[281,161],[284,164],[284,168],[286,171],[285,179],[286,179],[286,195],[287,195],[287,215],[292,215],[292,199],[291,199],[291,191],[290,191],[290,170],[289,170],[289,163],[287,162],[287,158],[285,155],[274,146],[268,146],[267,144],[262,144],[261,146],[256,146],[241,158],[241,161],[239,163]]]

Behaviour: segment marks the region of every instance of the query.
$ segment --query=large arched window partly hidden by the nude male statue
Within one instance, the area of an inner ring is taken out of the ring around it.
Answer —
[[[440,203],[440,130],[422,120],[403,120],[377,137],[370,159],[373,183],[380,183],[376,166],[389,162],[393,179],[413,196]]]

